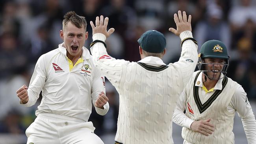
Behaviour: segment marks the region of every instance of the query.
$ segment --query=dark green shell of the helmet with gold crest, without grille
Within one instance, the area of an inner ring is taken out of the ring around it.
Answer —
[[[217,40],[210,40],[204,42],[198,56],[202,58],[213,57],[220,59],[229,59],[228,51],[225,44]]]

